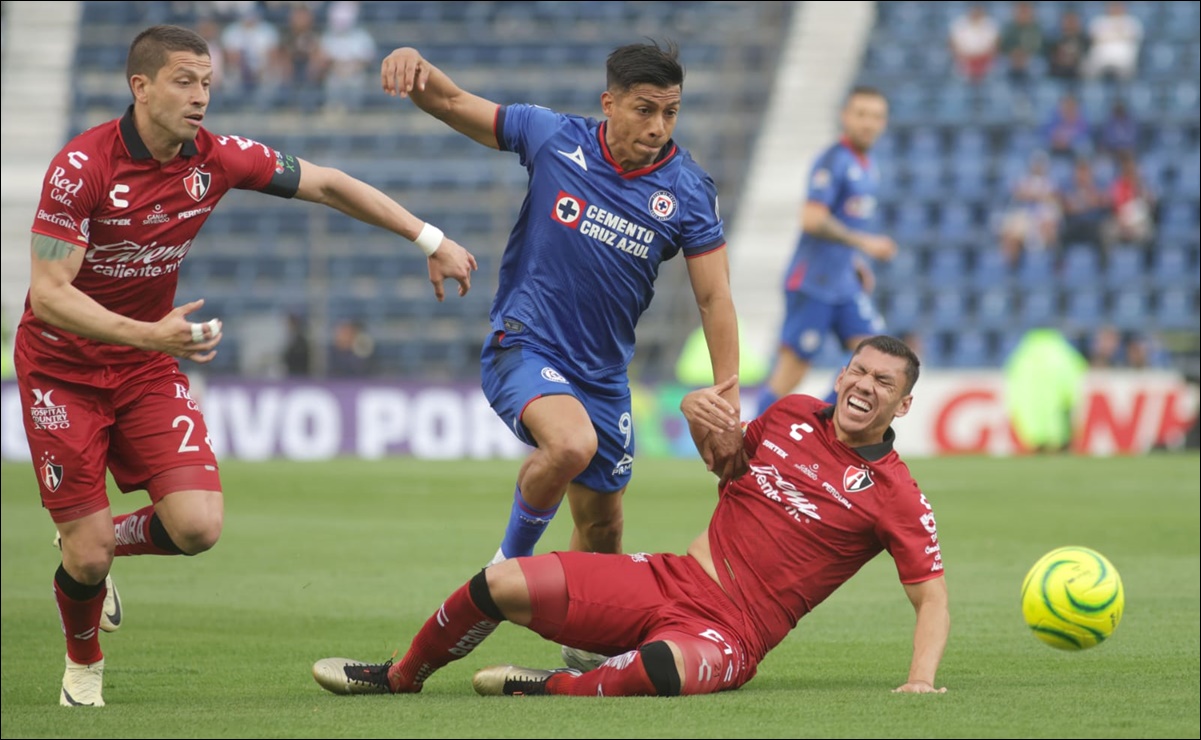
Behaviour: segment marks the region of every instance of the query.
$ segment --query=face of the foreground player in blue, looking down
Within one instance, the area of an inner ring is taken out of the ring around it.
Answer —
[[[634,85],[628,90],[605,90],[600,107],[609,125],[605,144],[623,171],[655,163],[659,150],[671,138],[680,117],[680,85],[657,88]]]

